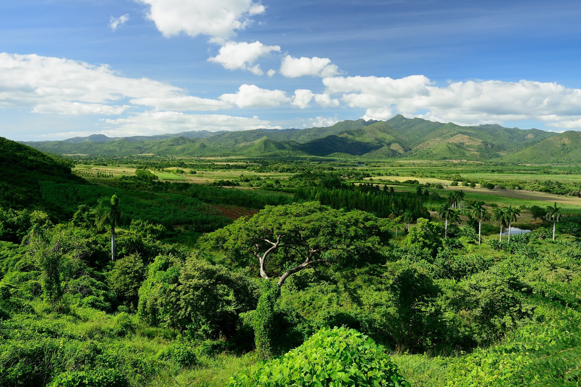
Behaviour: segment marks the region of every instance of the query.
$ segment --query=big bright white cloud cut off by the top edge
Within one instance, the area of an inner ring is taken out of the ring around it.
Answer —
[[[228,38],[251,23],[265,8],[252,0],[137,0],[149,5],[148,19],[165,37],[185,33]]]

